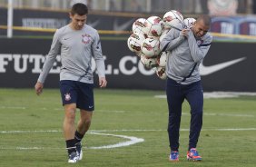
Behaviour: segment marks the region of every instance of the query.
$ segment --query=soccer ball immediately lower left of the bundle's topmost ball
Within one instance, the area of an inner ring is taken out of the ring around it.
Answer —
[[[162,34],[163,22],[159,16],[149,17],[144,25],[143,32],[148,36],[159,37]]]

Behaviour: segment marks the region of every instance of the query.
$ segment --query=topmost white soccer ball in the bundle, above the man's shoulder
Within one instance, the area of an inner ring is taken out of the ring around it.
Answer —
[[[181,23],[183,23],[183,16],[180,12],[171,10],[163,15],[162,21],[164,22],[164,28],[168,28],[171,25],[172,20],[178,19]]]

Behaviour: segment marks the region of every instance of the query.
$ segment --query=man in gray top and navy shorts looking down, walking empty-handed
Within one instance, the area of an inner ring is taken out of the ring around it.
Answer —
[[[81,141],[88,131],[94,111],[94,57],[99,76],[99,86],[105,87],[105,64],[98,32],[85,25],[88,14],[86,5],[74,4],[70,12],[71,23],[58,29],[53,38],[41,74],[34,85],[39,95],[44,81],[61,51],[60,90],[64,105],[64,139],[68,152],[68,162],[82,160]],[[75,111],[80,109],[80,120],[75,128]]]

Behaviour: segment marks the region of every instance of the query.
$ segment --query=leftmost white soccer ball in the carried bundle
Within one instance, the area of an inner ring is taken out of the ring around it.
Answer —
[[[142,52],[142,44],[145,37],[143,34],[131,34],[130,37],[127,40],[128,48],[135,53],[141,53]]]

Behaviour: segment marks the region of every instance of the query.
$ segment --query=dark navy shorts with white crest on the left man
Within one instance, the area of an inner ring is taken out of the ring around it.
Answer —
[[[76,108],[94,111],[94,83],[60,81],[63,105],[76,103]]]

